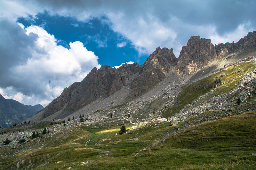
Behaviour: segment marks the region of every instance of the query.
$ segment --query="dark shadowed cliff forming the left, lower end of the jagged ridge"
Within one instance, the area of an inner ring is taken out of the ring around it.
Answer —
[[[127,79],[140,70],[138,63],[124,64],[118,69],[103,65],[93,68],[82,82],[73,83],[44,109],[44,117],[61,109],[77,110],[100,96],[109,96],[126,85]]]

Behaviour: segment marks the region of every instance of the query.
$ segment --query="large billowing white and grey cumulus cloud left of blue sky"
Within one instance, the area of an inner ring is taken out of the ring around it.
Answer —
[[[24,29],[1,19],[1,38],[1,58],[6,61],[0,63],[1,91],[5,98],[24,104],[45,106],[65,87],[82,81],[93,67],[100,68],[98,57],[82,42],[70,42],[70,49],[64,48],[57,45],[54,35],[38,26]]]

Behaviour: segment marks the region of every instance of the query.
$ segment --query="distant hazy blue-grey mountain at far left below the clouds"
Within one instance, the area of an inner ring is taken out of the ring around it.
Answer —
[[[16,100],[5,99],[0,94],[0,126],[1,128],[7,128],[15,123],[18,124],[30,116],[35,115],[43,108],[42,105],[23,105]]]

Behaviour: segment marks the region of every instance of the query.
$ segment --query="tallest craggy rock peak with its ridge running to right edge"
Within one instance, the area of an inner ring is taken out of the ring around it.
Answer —
[[[186,46],[182,47],[175,62],[175,68],[181,75],[187,75],[208,65],[215,59],[222,58],[231,52],[256,47],[256,31],[249,32],[236,43],[221,43],[215,46],[210,39],[192,36]]]

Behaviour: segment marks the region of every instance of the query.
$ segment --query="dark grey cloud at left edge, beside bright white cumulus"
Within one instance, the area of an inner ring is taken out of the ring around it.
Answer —
[[[32,57],[30,49],[35,46],[37,35],[27,35],[17,23],[5,18],[0,20],[0,30],[0,86],[5,88],[13,84],[9,78],[12,68]]]

